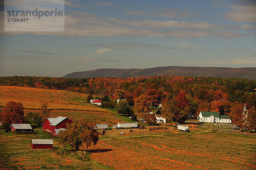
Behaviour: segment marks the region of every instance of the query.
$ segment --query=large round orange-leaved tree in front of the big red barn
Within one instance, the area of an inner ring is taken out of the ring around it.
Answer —
[[[61,144],[70,144],[76,150],[84,145],[87,147],[91,144],[96,145],[99,141],[97,130],[93,129],[96,124],[88,122],[86,118],[77,118],[71,124],[67,124],[67,129],[60,131],[58,139]]]

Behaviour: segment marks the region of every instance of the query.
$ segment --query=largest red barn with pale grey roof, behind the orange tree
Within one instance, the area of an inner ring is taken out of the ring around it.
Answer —
[[[52,131],[55,129],[67,129],[66,124],[71,124],[72,122],[73,121],[71,121],[69,118],[62,116],[59,116],[58,118],[47,118],[44,121],[43,130],[52,133]]]

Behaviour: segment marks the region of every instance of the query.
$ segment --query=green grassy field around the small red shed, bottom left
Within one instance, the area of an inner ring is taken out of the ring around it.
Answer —
[[[40,137],[41,136],[41,137]],[[49,138],[46,133],[32,134],[13,134],[0,131],[0,170],[10,169],[47,169],[47,170],[108,170],[112,169],[96,161],[79,158],[73,152],[67,156],[61,154],[58,141],[53,141],[53,149],[41,150],[31,149],[31,139]],[[89,158],[90,159],[90,158]]]

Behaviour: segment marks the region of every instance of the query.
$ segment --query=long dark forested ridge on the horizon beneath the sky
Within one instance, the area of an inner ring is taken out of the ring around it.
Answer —
[[[94,78],[94,77],[149,77],[158,75],[191,75],[221,78],[246,78],[256,80],[256,67],[229,68],[229,67],[191,67],[166,66],[149,69],[96,69],[85,72],[73,72],[64,75],[64,78]]]

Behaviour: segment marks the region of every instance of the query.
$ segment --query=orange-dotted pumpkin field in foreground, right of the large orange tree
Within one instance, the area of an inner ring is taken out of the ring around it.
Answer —
[[[116,170],[256,168],[255,138],[219,132],[104,139],[91,150],[90,158]]]

